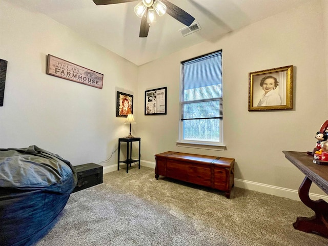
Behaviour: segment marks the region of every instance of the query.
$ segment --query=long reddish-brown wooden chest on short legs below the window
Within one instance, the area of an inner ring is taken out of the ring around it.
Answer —
[[[227,198],[230,198],[235,159],[173,151],[156,154],[155,158],[156,179],[162,175],[211,187],[226,192]]]

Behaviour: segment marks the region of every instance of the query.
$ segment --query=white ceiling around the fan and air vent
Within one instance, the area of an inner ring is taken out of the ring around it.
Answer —
[[[168,14],[157,16],[148,37],[139,37],[139,2],[95,5],[92,0],[5,0],[43,13],[93,42],[142,65],[178,50],[288,11],[309,0],[169,0],[197,21],[201,30],[183,37],[186,27]],[[250,34],[251,35],[251,34]]]

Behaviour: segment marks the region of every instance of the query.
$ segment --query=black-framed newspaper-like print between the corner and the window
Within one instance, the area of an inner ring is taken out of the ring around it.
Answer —
[[[167,87],[145,91],[145,115],[166,114]]]

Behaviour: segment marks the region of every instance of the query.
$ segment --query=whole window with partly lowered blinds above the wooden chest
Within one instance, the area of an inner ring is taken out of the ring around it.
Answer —
[[[180,142],[222,145],[222,51],[181,63]]]

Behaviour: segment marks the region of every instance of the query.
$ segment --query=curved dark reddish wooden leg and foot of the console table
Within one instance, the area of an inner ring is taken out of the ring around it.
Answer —
[[[319,234],[328,238],[328,203],[322,199],[313,201],[309,197],[309,191],[312,181],[308,177],[305,177],[299,190],[299,198],[310,209],[315,212],[315,215],[311,218],[297,217],[296,222],[293,223],[295,229],[307,232]]]

